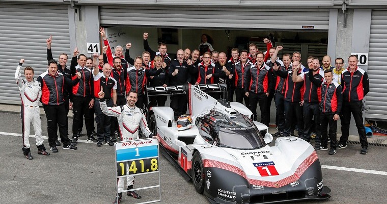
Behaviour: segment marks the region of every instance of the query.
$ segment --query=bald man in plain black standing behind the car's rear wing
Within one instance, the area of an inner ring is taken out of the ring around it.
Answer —
[[[190,70],[192,62],[184,62],[184,51],[177,50],[177,60],[173,60],[168,69],[169,85],[183,85],[191,81]],[[171,95],[171,108],[175,112],[175,118],[187,112],[187,98],[182,95]]]

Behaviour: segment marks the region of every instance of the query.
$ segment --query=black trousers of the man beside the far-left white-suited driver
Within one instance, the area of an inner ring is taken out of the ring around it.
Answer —
[[[43,106],[44,112],[47,118],[47,133],[48,133],[48,144],[55,146],[57,140],[57,132],[59,127],[59,136],[64,146],[70,144],[70,139],[67,136],[67,122],[66,122],[66,109],[65,105],[59,106]]]

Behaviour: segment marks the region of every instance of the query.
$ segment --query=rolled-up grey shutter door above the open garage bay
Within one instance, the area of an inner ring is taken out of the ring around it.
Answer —
[[[104,25],[144,25],[180,28],[241,28],[271,30],[328,30],[327,9],[257,9],[205,7],[100,7]]]

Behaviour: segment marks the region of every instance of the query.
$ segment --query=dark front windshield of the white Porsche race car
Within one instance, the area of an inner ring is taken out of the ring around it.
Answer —
[[[257,149],[266,145],[256,126],[220,127],[217,146],[234,149]]]

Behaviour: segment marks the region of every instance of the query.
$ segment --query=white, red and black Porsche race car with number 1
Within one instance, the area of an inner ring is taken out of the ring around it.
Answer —
[[[314,148],[297,137],[278,138],[274,146],[269,146],[273,137],[268,127],[253,121],[250,110],[202,91],[221,92],[221,84],[165,88],[159,91],[186,91],[189,114],[175,121],[170,107],[152,107],[148,113],[150,130],[191,178],[196,191],[211,203],[330,197]],[[154,87],[147,90],[150,94],[157,92]]]

